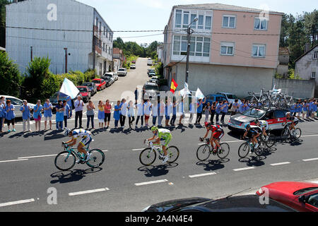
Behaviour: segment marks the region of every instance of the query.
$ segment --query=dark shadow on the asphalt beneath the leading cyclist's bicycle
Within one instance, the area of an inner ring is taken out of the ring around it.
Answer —
[[[74,169],[68,171],[54,172],[50,176],[53,178],[51,184],[64,184],[69,182],[78,182],[79,180],[86,177],[86,174],[92,174],[95,172],[100,172],[102,168],[89,168],[89,169]]]

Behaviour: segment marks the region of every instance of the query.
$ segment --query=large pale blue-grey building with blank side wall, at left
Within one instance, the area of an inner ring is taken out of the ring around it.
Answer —
[[[111,69],[110,26],[75,0],[26,0],[6,6],[6,52],[25,72],[31,58],[49,57],[50,71]],[[66,48],[66,49],[65,49]]]

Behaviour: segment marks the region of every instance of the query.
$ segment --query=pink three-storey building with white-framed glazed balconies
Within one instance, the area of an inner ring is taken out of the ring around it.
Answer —
[[[164,75],[183,88],[187,28],[192,35],[189,52],[189,89],[205,95],[271,89],[278,66],[283,13],[225,4],[173,6],[164,31]]]

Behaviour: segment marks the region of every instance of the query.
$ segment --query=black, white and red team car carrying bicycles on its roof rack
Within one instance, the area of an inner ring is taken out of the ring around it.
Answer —
[[[245,131],[245,124],[250,123],[254,125],[254,120],[265,120],[269,123],[269,129],[282,130],[283,124],[286,122],[285,113],[287,109],[261,109],[251,108],[243,112],[242,114],[235,114],[230,117],[228,121],[228,129],[231,131]]]

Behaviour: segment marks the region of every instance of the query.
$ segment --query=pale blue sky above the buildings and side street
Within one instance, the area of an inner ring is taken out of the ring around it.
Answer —
[[[287,14],[312,12],[318,8],[317,0],[77,0],[93,6],[113,31],[164,30],[172,6],[184,4],[220,3],[249,8],[269,9]],[[146,36],[148,35],[148,36]],[[146,37],[140,37],[146,36]],[[114,32],[114,39],[122,37],[124,42],[163,42],[163,32]]]

